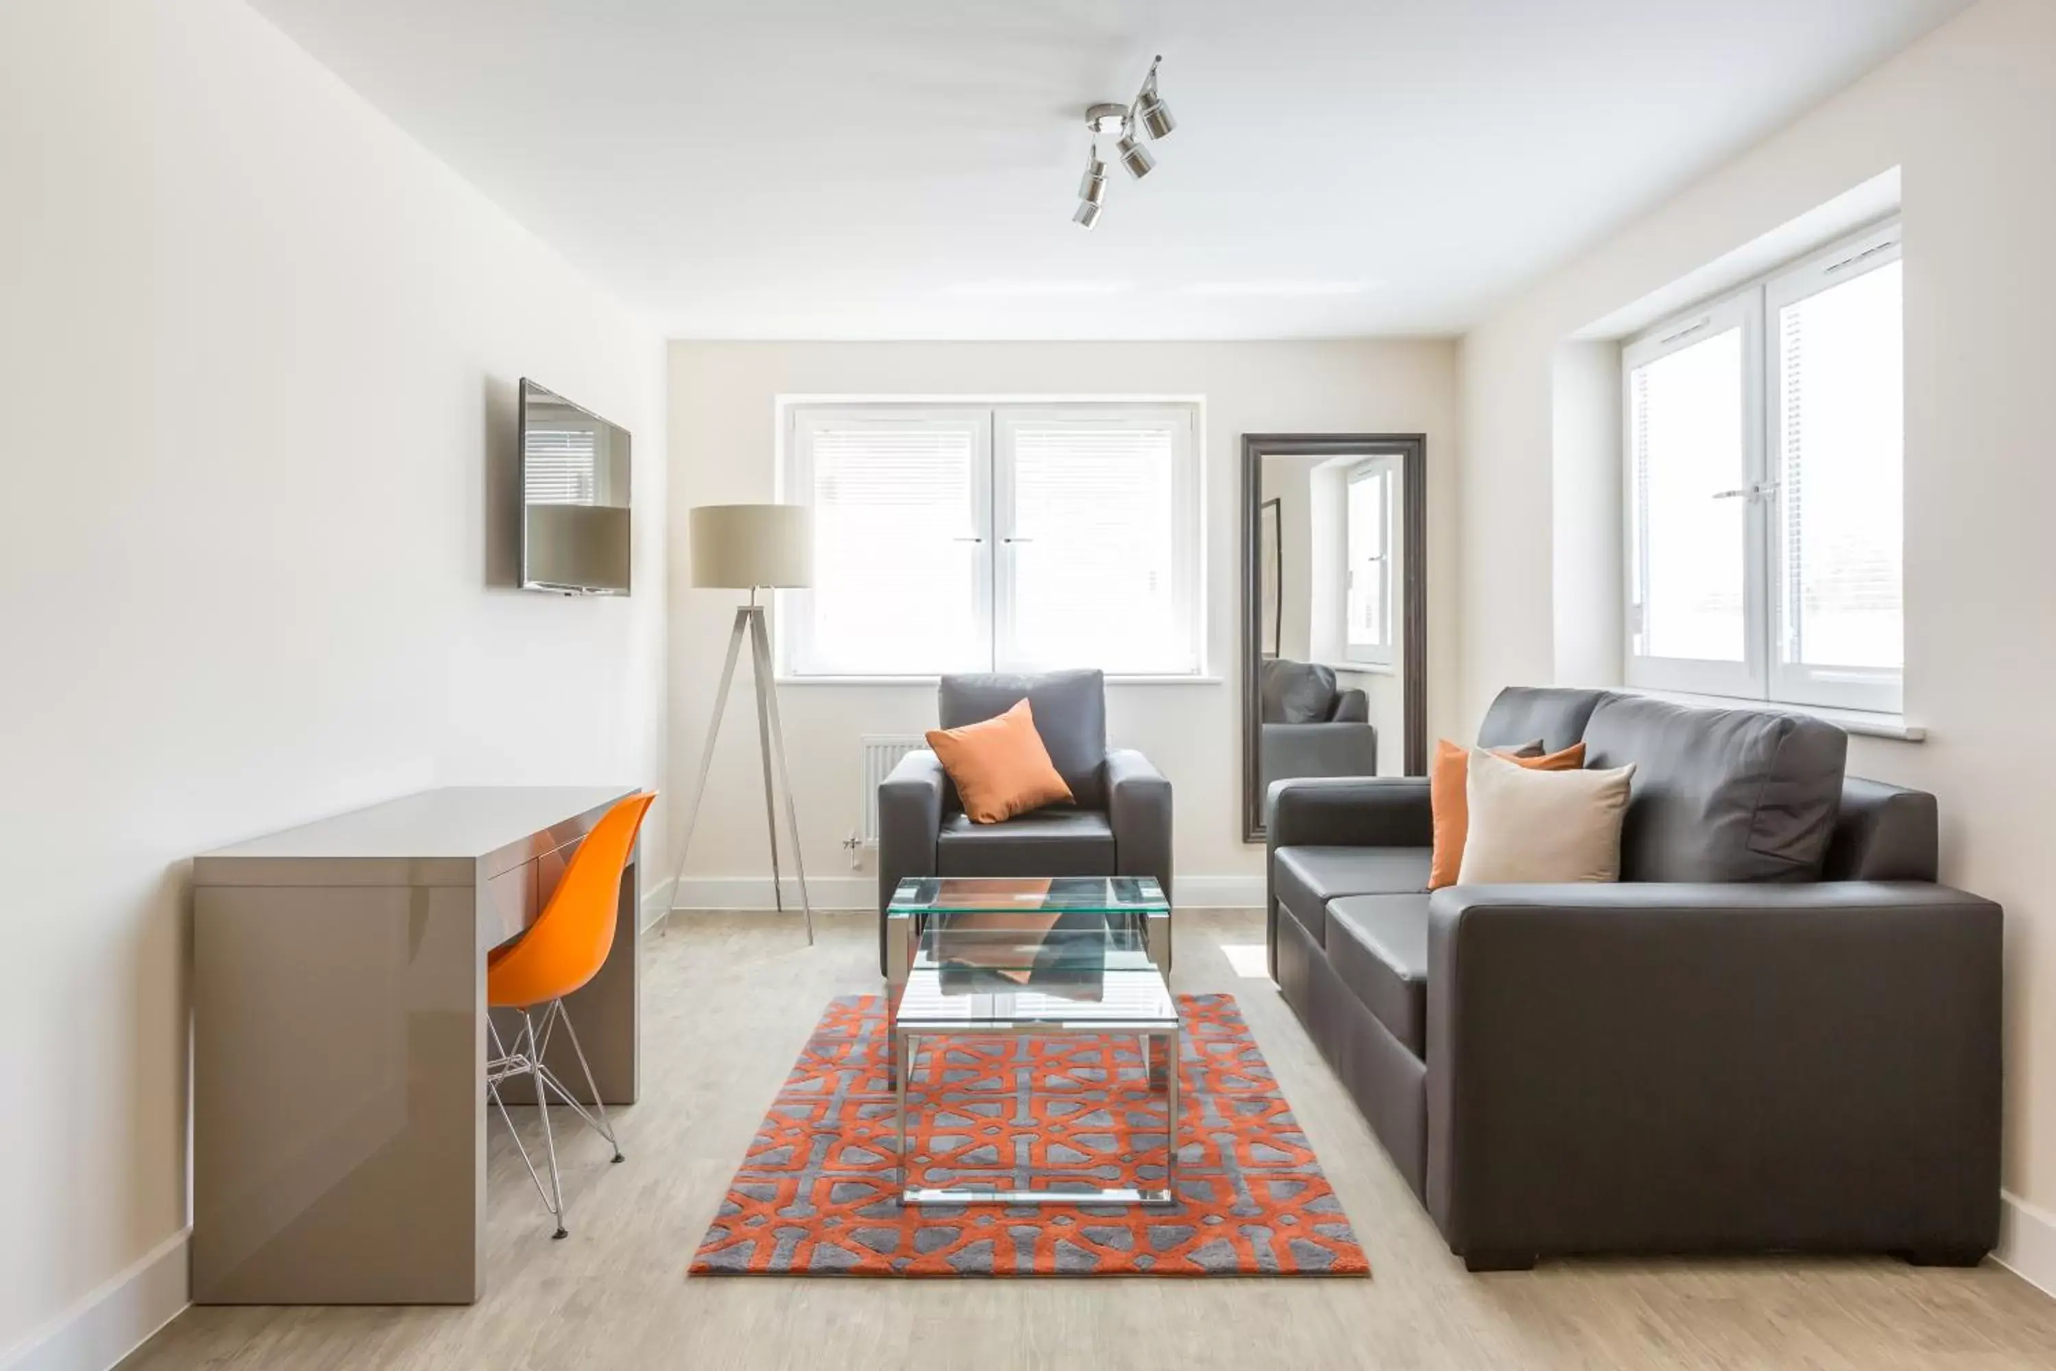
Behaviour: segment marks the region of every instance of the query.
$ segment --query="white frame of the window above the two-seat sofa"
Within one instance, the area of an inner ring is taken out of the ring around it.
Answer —
[[[1889,247],[1885,247],[1889,245]],[[1626,339],[1620,349],[1620,489],[1622,489],[1622,680],[1643,691],[1713,695],[1780,705],[1815,705],[1898,713],[1904,668],[1898,672],[1805,668],[1783,662],[1785,602],[1778,532],[1785,502],[1778,489],[1783,460],[1776,415],[1783,409],[1783,374],[1768,329],[1776,310],[1846,280],[1852,263],[1873,271],[1900,259],[1900,222],[1887,220],[1840,238],[1795,263],[1694,310],[1674,314]],[[1741,331],[1741,452],[1743,479],[1731,495],[1746,502],[1743,516],[1743,660],[1704,662],[1655,658],[1635,652],[1641,625],[1639,586],[1643,547],[1635,504],[1635,370],[1692,347],[1727,329]]]

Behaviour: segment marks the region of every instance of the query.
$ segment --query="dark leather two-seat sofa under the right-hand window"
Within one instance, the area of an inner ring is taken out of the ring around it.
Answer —
[[[1271,972],[1472,1270],[1998,1235],[2000,911],[1815,719],[1505,691],[1635,763],[1618,886],[1425,892],[1425,779],[1271,791]]]

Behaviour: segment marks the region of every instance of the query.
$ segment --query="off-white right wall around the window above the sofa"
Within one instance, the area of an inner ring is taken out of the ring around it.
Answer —
[[[1526,290],[1462,347],[1462,717],[1579,680],[1552,631],[1552,358],[1585,325],[1902,169],[1906,713],[1850,769],[1939,793],[1945,880],[2007,906],[2013,1260],[2056,1279],[2056,4],[1986,0]],[[1565,495],[1556,485],[1556,495]],[[1581,510],[1558,508],[1561,536]],[[1589,530],[1577,536],[1589,536]],[[1618,541],[1616,541],[1618,547]],[[1593,613],[1618,610],[1610,604]],[[2035,1209],[2042,1211],[2035,1217]],[[2040,1237],[2021,1237],[2033,1229]]]

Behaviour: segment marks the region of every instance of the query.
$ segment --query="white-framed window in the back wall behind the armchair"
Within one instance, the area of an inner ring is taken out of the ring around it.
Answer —
[[[785,497],[814,508],[814,586],[779,600],[790,674],[1199,674],[1190,405],[785,413]]]

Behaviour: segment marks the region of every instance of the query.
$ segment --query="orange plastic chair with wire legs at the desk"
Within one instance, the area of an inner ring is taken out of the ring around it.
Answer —
[[[549,1124],[549,1096],[572,1106],[615,1149],[613,1159],[623,1159],[621,1143],[615,1141],[613,1122],[607,1118],[607,1106],[600,1104],[600,1087],[586,1063],[586,1048],[580,1046],[572,1015],[563,1009],[563,997],[592,980],[607,962],[607,954],[613,952],[621,876],[627,869],[629,853],[635,851],[635,835],[641,830],[644,814],[650,812],[654,800],[656,791],[644,791],[607,810],[572,853],[572,863],[563,869],[563,880],[557,882],[557,892],[549,896],[549,906],[543,909],[541,917],[528,925],[520,941],[485,958],[485,1003],[493,1009],[520,1013],[520,1030],[514,1034],[512,1050],[502,1046],[500,1026],[487,1020],[493,1057],[485,1063],[485,1094],[500,1110],[500,1118],[506,1120],[508,1133],[514,1135],[514,1147],[520,1149],[522,1165],[528,1168],[528,1180],[535,1182],[537,1194],[543,1196],[543,1205],[557,1221],[557,1231],[551,1237],[563,1237],[567,1229],[563,1227],[563,1178],[557,1172],[557,1135]],[[543,1011],[541,1017],[535,1013],[537,1007]],[[578,1067],[586,1073],[596,1116],[572,1098],[555,1071],[543,1065],[557,1024],[563,1024],[563,1032],[572,1038],[572,1050],[578,1054]],[[535,1077],[535,1104],[543,1116],[543,1143],[549,1147],[547,1190],[535,1161],[528,1159],[528,1147],[514,1128],[514,1116],[508,1114],[508,1106],[500,1098],[500,1081],[516,1075]]]

